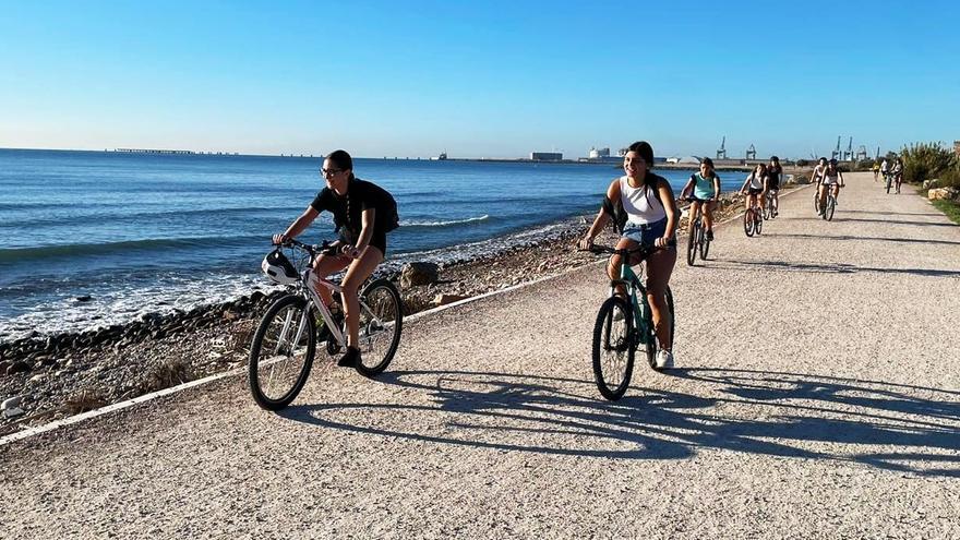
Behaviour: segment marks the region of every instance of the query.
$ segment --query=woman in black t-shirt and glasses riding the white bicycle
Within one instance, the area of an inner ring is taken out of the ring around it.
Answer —
[[[276,244],[295,238],[316,219],[323,211],[334,215],[339,239],[337,255],[321,255],[313,268],[326,278],[347,268],[340,283],[343,305],[347,315],[347,351],[339,365],[356,365],[360,360],[360,302],[357,293],[386,255],[386,233],[397,226],[396,203],[383,188],[353,176],[353,159],[345,151],[336,151],[323,160],[321,175],[324,188],[283,235],[274,235]],[[319,287],[316,292],[324,303],[333,301],[329,289]]]

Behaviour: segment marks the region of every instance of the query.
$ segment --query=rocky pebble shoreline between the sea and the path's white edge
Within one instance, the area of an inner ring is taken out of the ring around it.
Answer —
[[[724,197],[723,219],[742,208]],[[587,228],[571,227],[494,255],[435,265],[435,275],[399,281],[408,314],[583,266],[599,257],[578,252]],[[681,229],[685,219],[681,220]],[[598,243],[615,241],[608,228]],[[0,435],[242,367],[260,316],[285,290],[171,315],[149,314],[108,328],[0,343]]]

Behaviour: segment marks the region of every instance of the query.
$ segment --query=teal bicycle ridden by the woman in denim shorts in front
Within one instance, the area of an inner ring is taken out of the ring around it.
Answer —
[[[610,298],[600,307],[597,323],[593,326],[593,379],[600,394],[615,401],[623,397],[629,386],[634,371],[636,351],[643,348],[647,353],[647,363],[657,369],[657,351],[660,343],[653,333],[653,317],[647,301],[647,289],[639,275],[635,274],[626,261],[639,254],[643,259],[656,251],[652,245],[635,249],[617,250],[604,245],[595,245],[595,253],[620,255],[620,279],[610,281]],[[616,293],[616,287],[626,289],[626,297]],[[667,305],[670,312],[670,340],[673,341],[673,292],[667,288]]]

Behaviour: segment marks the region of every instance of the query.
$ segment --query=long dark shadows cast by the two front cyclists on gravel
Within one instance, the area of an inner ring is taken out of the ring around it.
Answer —
[[[404,389],[406,403],[300,405],[281,416],[325,429],[497,451],[685,459],[724,449],[960,477],[957,392],[748,370],[674,374],[696,381],[703,395],[632,387],[612,403],[598,396],[592,381],[406,371],[379,380]]]

